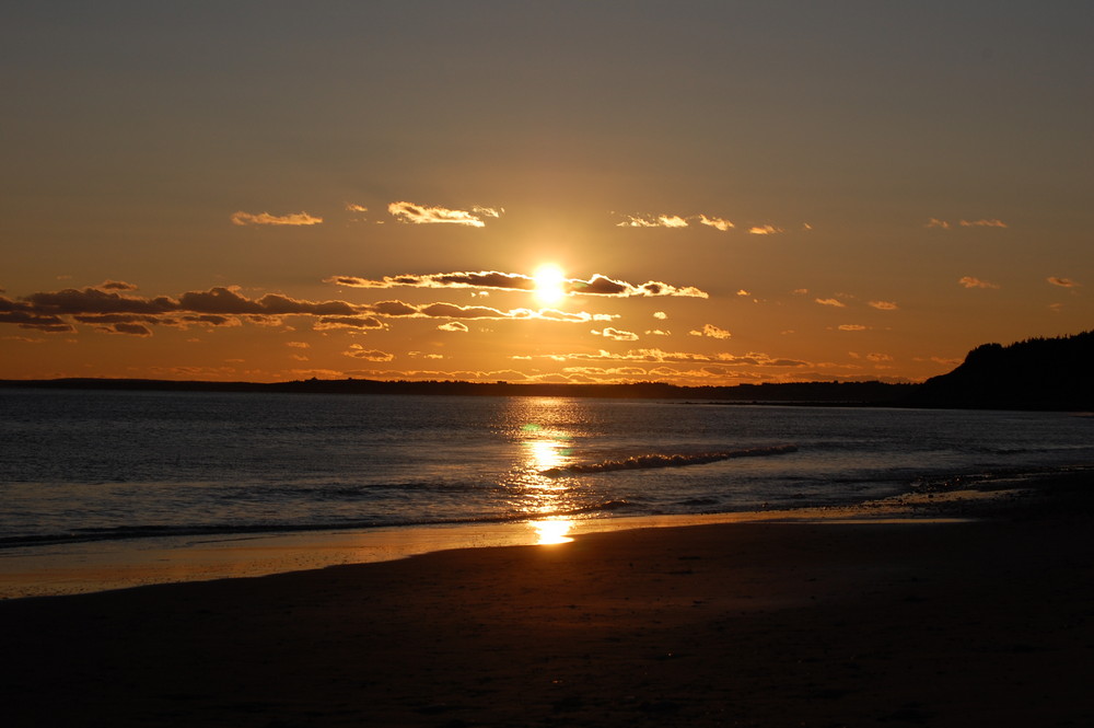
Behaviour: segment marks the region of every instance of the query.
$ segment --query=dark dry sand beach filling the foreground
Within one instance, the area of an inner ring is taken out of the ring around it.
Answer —
[[[1087,486],[10,600],[0,725],[1092,726]]]

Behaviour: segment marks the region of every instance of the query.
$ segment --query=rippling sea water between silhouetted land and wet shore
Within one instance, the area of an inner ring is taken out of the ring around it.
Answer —
[[[1094,462],[1064,413],[0,390],[0,548],[850,505]]]

